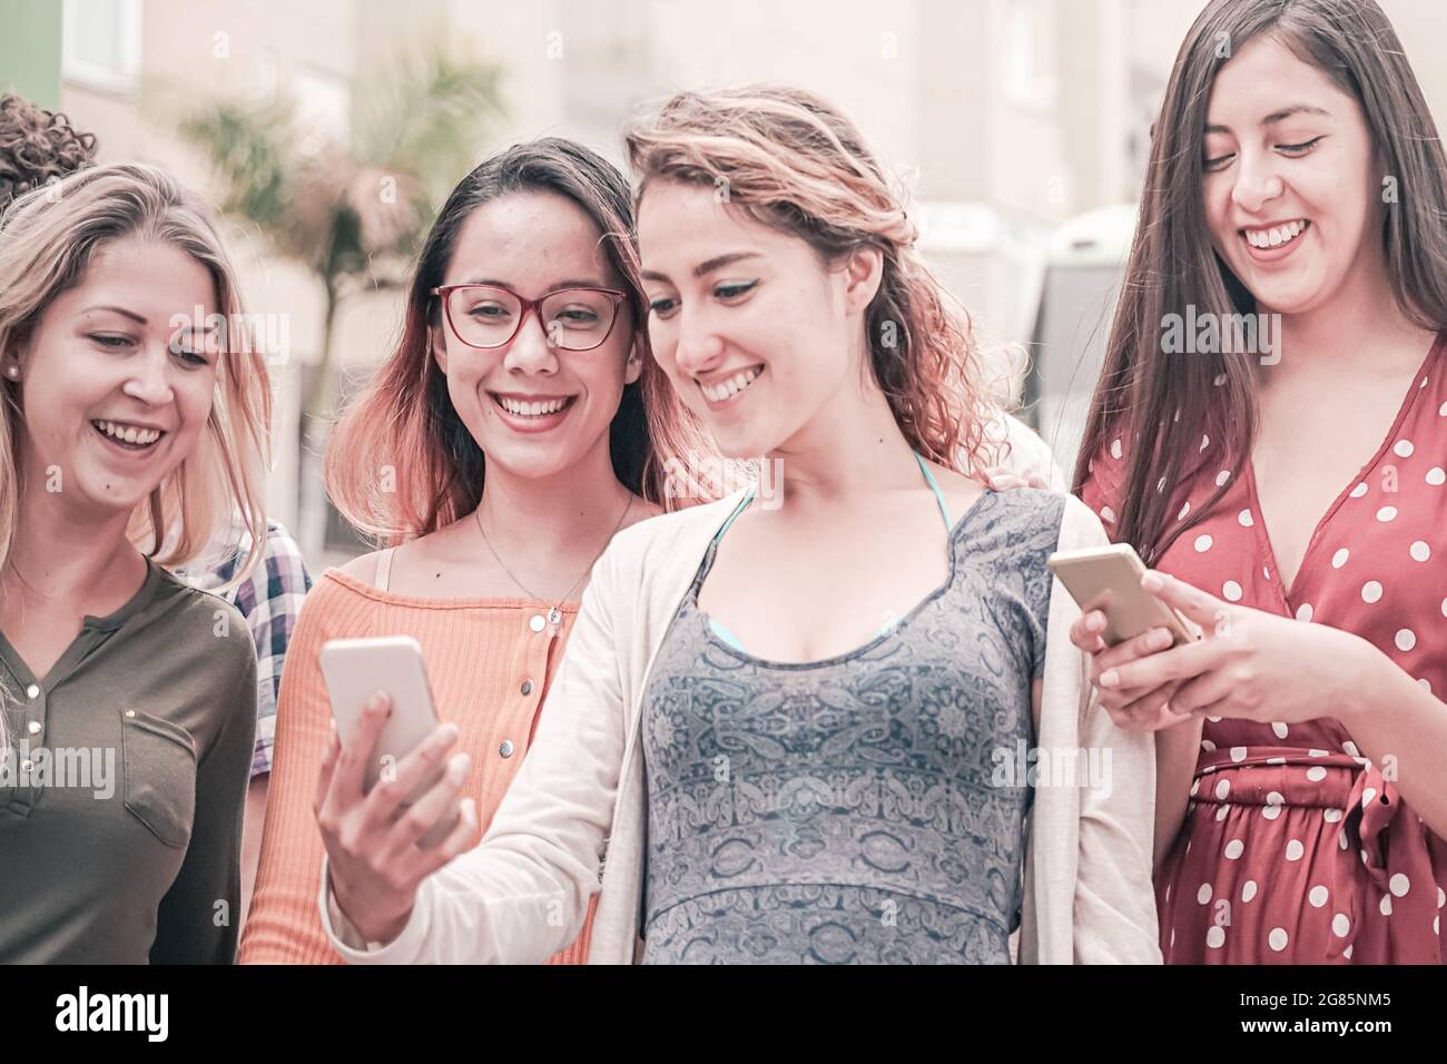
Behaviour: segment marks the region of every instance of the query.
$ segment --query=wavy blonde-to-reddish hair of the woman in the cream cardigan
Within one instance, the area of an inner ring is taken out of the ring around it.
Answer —
[[[729,207],[825,262],[877,248],[883,278],[865,313],[874,381],[915,450],[958,472],[981,466],[990,411],[969,316],[919,256],[907,197],[849,119],[792,85],[680,93],[629,126],[625,145],[638,197],[658,178],[726,187]]]

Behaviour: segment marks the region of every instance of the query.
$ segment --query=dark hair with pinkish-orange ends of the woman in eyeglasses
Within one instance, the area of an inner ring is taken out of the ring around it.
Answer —
[[[669,489],[671,470],[686,463],[686,456],[715,452],[648,347],[648,304],[628,181],[583,145],[546,138],[485,159],[447,197],[412,275],[401,339],[331,433],[327,491],[353,525],[382,541],[425,536],[482,501],[486,459],[453,407],[447,376],[430,353],[428,330],[441,314],[431,290],[443,284],[457,233],[478,207],[531,191],[563,195],[587,213],[603,235],[601,246],[608,262],[628,291],[642,372],[624,388],[609,430],[614,473],[629,491],[667,510],[708,495],[703,485],[682,495]],[[386,468],[395,470],[395,485],[379,476]]]

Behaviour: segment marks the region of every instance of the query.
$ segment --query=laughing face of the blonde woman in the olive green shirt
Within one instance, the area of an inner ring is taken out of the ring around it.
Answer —
[[[20,372],[26,482],[59,470],[61,495],[100,517],[129,512],[195,449],[211,414],[218,336],[177,330],[217,304],[208,269],[162,242],[101,246],[4,355]]]

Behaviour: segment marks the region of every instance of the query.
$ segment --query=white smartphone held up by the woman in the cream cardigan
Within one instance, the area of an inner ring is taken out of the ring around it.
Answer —
[[[423,663],[423,649],[411,636],[388,636],[382,638],[328,640],[321,646],[321,676],[327,683],[327,698],[331,699],[331,715],[337,721],[341,746],[355,741],[362,721],[362,709],[378,691],[385,691],[392,699],[392,715],[382,727],[376,748],[368,760],[363,792],[372,790],[386,772],[396,772],[407,757],[440,724],[433,704],[431,685],[427,682],[427,666]],[[418,783],[402,799],[401,808],[425,795],[441,777],[447,761],[438,763],[427,779]],[[427,834],[417,840],[423,850],[447,838],[460,815],[459,803],[453,803]]]

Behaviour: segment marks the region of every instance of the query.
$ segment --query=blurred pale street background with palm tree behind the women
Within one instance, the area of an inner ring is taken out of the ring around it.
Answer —
[[[1438,122],[1443,0],[1380,0]],[[1003,394],[1074,460],[1166,75],[1202,0],[0,0],[0,91],[224,210],[276,326],[273,515],[313,572],[360,550],[308,436],[391,349],[408,258],[480,158],[616,162],[679,88],[790,81],[912,190]],[[308,431],[308,424],[313,427]]]

